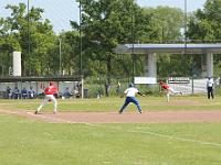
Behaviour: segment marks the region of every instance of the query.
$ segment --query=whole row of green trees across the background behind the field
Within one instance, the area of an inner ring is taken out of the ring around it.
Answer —
[[[80,2],[80,0],[76,0]],[[190,43],[221,40],[221,0],[207,0],[203,9],[188,13],[179,8],[141,8],[135,0],[81,0],[81,21],[56,34],[43,9],[8,4],[0,18],[0,70],[9,75],[12,52],[22,52],[23,76],[84,75],[131,77],[144,75],[144,55],[115,54],[126,43]],[[187,31],[183,33],[185,25]],[[158,76],[200,75],[203,55],[157,56]],[[214,74],[221,57],[214,55]],[[61,73],[62,70],[62,73]],[[134,73],[133,73],[134,72]]]

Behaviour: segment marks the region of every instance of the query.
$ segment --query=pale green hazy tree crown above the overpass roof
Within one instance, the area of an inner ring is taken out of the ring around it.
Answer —
[[[150,15],[149,42],[176,42],[181,38],[180,30],[183,28],[183,12],[179,8],[157,7],[145,8]]]

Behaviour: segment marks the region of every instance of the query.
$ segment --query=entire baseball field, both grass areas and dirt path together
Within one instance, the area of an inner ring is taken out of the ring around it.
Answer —
[[[220,165],[221,97],[0,100],[2,165]]]

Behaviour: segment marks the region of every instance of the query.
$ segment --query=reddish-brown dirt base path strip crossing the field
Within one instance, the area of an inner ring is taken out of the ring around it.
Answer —
[[[166,112],[42,112],[0,110],[0,113],[24,117],[50,123],[192,123],[221,122],[221,111],[166,111]]]

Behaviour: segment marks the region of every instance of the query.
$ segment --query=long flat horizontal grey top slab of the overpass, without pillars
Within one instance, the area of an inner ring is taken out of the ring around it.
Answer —
[[[114,48],[117,54],[221,54],[221,43],[217,44],[124,44]]]

